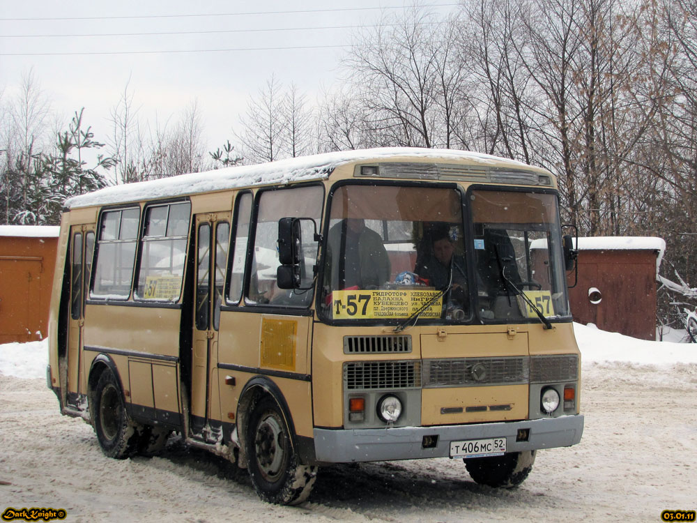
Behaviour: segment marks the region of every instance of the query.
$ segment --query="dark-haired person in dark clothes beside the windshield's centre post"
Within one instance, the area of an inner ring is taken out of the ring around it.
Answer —
[[[467,303],[467,272],[464,256],[455,254],[456,247],[447,225],[434,227],[427,233],[422,245],[425,252],[419,256],[414,272],[429,280],[431,286],[443,290],[450,283],[452,272],[452,289],[450,301],[458,308]]]

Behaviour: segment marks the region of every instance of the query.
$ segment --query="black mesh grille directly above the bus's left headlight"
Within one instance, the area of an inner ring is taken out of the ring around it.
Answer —
[[[419,361],[351,361],[344,363],[344,384],[349,391],[421,386]]]

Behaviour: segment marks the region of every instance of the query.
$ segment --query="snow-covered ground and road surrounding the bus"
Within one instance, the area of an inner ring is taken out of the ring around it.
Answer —
[[[659,521],[697,508],[697,345],[576,324],[581,444],[537,453],[521,487],[476,485],[459,460],[321,469],[307,503],[260,501],[246,473],[170,439],[161,457],[110,460],[46,388],[46,344],[0,345],[0,510],[64,508],[66,521]]]

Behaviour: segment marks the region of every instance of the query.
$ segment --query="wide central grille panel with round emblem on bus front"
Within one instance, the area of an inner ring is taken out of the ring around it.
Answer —
[[[424,360],[424,387],[515,385],[528,383],[528,358]]]

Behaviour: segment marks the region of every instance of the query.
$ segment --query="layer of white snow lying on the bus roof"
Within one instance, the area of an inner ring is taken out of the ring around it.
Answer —
[[[66,206],[87,207],[92,205],[136,202],[140,199],[158,199],[182,196],[197,192],[225,190],[250,185],[271,185],[291,181],[326,179],[339,165],[360,160],[379,160],[388,157],[439,158],[442,160],[472,160],[478,164],[530,168],[522,162],[507,160],[482,153],[457,151],[454,149],[421,149],[417,147],[381,147],[339,151],[335,153],[300,156],[277,162],[242,167],[225,167],[214,171],[181,174],[171,178],[114,185],[89,192],[86,195],[66,200]]]

